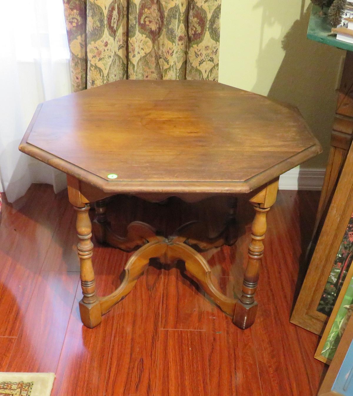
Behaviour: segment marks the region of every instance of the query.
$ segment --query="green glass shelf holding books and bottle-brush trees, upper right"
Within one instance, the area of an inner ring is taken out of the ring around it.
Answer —
[[[320,11],[320,7],[313,5],[309,27],[307,28],[307,38],[332,47],[353,51],[353,44],[337,40],[336,36],[328,36],[331,33],[332,26],[327,21],[327,15],[319,15]]]

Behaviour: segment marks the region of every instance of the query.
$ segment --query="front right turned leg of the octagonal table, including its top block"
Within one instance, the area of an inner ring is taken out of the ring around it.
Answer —
[[[241,329],[247,329],[255,322],[257,306],[254,297],[259,278],[261,257],[264,254],[263,240],[266,233],[266,214],[275,203],[278,180],[269,184],[259,194],[251,198],[255,217],[251,227],[251,242],[248,250],[248,263],[244,274],[242,294],[235,305],[233,323]]]

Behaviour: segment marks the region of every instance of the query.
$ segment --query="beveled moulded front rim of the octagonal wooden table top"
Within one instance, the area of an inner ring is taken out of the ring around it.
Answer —
[[[36,111],[34,112],[32,120],[30,121],[26,133],[19,145],[19,150],[33,158],[36,158],[37,160],[40,160],[41,162],[44,162],[45,164],[52,166],[53,168],[59,169],[68,175],[76,177],[85,183],[109,193],[249,193],[322,152],[322,147],[319,141],[313,136],[313,134],[310,132],[310,129],[307,128],[308,133],[312,135],[315,144],[245,181],[108,181],[98,175],[95,175],[94,173],[80,168],[77,165],[63,160],[62,158],[50,154],[41,148],[27,143],[28,135],[33,128],[41,108],[42,103],[38,105]],[[299,112],[297,115],[300,116]],[[304,120],[303,122],[305,123]]]

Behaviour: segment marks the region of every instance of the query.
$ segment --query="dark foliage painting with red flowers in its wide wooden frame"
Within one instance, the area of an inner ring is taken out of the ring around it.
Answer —
[[[311,258],[290,322],[322,335],[353,261],[353,146]]]

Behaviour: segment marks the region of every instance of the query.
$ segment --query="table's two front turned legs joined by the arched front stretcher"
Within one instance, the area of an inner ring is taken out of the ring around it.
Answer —
[[[260,204],[252,202],[256,215],[252,225],[252,242],[249,245],[249,261],[243,282],[243,294],[240,301],[223,295],[217,287],[217,282],[211,275],[211,268],[205,259],[192,247],[186,245],[185,237],[163,238],[145,234],[146,228],[137,222],[136,238],[144,238],[146,244],[140,247],[129,259],[125,266],[125,277],[121,285],[108,296],[95,295],[95,280],[92,266],[93,244],[91,242],[91,221],[88,211],[89,204],[83,208],[75,207],[77,211],[78,256],[81,263],[81,286],[83,299],[80,301],[80,314],[82,323],[87,327],[97,326],[116,303],[121,301],[133,288],[138,278],[149,265],[151,258],[159,258],[165,264],[182,260],[186,270],[201,288],[225,313],[233,316],[233,322],[241,329],[250,327],[255,320],[257,303],[254,302],[258,280],[259,261],[263,253],[262,240],[266,231],[266,213],[269,208],[260,208]],[[132,223],[134,226],[134,224]],[[150,230],[149,230],[150,231]],[[140,234],[140,233],[142,234]]]

